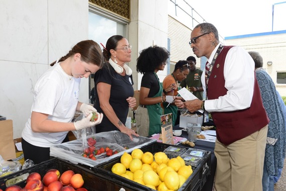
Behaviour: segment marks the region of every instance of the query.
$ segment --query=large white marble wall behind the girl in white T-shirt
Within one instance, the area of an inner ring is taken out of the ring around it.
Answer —
[[[0,115],[13,120],[18,138],[31,114],[37,79],[88,38],[88,0],[1,2]],[[88,79],[81,82],[80,101],[88,102]]]

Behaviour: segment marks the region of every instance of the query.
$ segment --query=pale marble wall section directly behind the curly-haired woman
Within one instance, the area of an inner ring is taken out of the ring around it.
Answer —
[[[131,1],[129,39],[133,44],[132,52],[136,53],[136,55],[132,55],[132,58],[137,58],[139,56],[138,52],[153,45],[167,48],[168,1]],[[133,71],[136,71],[136,68]],[[158,71],[157,74],[160,81],[163,82],[167,75],[167,66],[164,71]],[[136,85],[134,89],[140,89],[142,74],[135,72],[132,75],[134,84]]]

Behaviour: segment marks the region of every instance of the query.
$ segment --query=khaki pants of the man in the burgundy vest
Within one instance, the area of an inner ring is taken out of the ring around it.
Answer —
[[[267,130],[265,126],[227,146],[216,140],[216,191],[262,190]]]

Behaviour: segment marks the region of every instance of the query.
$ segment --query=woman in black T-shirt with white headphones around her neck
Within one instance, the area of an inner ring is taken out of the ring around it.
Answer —
[[[119,130],[133,140],[132,135],[138,135],[125,126],[129,108],[136,106],[132,70],[125,64],[131,61],[131,46],[123,36],[111,36],[103,46],[103,57],[105,63],[94,75],[93,107],[104,114],[96,133]]]

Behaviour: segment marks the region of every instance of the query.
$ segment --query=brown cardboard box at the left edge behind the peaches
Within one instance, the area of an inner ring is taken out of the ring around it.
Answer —
[[[4,160],[16,158],[12,120],[0,121],[0,155]]]

